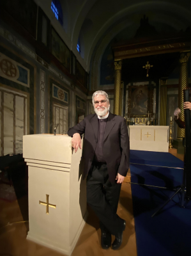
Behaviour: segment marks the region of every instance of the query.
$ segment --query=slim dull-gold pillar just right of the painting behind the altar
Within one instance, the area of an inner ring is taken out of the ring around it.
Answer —
[[[167,78],[160,79],[160,125],[167,125]]]

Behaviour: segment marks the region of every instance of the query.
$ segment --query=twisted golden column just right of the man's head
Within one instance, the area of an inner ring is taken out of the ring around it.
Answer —
[[[122,61],[114,62],[115,81],[114,81],[114,114],[121,115],[121,67]]]

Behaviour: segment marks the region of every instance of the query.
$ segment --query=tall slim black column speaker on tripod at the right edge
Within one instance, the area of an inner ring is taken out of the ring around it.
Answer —
[[[190,101],[190,89],[184,90],[184,102]],[[191,117],[190,109],[185,109],[185,174],[187,197],[191,198]]]

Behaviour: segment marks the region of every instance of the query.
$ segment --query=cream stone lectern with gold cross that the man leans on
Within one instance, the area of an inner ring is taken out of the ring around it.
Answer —
[[[27,239],[71,255],[87,218],[86,180],[80,173],[82,150],[72,150],[68,135],[23,137],[29,166]]]

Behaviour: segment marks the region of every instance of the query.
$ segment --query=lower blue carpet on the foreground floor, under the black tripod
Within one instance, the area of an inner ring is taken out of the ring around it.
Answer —
[[[174,192],[132,184],[135,234],[138,256],[190,256],[191,205],[179,207],[179,196],[157,211]]]

